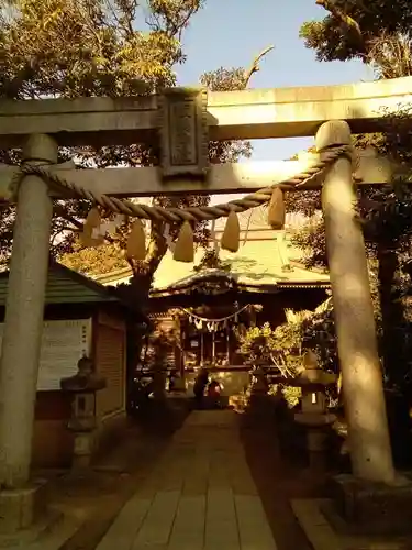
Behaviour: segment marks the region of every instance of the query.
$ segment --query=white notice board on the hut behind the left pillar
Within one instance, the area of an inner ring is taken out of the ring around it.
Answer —
[[[0,323],[0,344],[4,324]],[[23,342],[24,345],[24,342]],[[77,373],[77,362],[91,352],[91,319],[45,321],[37,391],[60,389],[60,380]]]

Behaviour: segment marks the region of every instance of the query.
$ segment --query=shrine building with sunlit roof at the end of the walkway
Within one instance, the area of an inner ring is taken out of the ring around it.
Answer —
[[[169,336],[167,367],[176,369],[189,389],[197,370],[208,366],[223,378],[225,394],[238,393],[250,370],[238,353],[240,333],[253,324],[281,324],[286,309],[312,310],[330,288],[325,272],[299,261],[291,228],[272,230],[264,208],[240,215],[240,224],[237,253],[218,250],[224,229],[218,222],[208,249],[199,246],[193,263],[174,261],[168,250],[154,276],[146,314],[155,337]],[[124,268],[96,279],[116,286],[131,278],[131,270]]]

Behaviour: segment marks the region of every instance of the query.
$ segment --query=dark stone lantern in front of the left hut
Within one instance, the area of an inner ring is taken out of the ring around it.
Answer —
[[[71,418],[67,428],[74,432],[75,448],[73,468],[90,464],[93,452],[96,418],[96,394],[105,387],[105,380],[94,373],[92,361],[82,356],[74,376],[60,380],[60,388],[71,396]]]

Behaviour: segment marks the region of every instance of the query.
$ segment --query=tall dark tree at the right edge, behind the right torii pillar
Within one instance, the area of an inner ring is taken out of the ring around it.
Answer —
[[[303,24],[300,35],[316,52],[319,61],[359,58],[374,67],[377,78],[412,74],[409,1],[316,0],[327,15],[322,21]],[[375,146],[407,169],[411,167],[410,109],[388,112],[382,132],[356,136],[358,147]],[[402,188],[405,174],[385,189],[358,191],[359,215],[370,257],[377,258],[377,277],[382,316],[381,354],[393,384],[402,384],[410,370],[410,332],[402,295],[410,285],[404,265],[410,262],[412,202],[409,189]],[[316,198],[316,197],[315,197]],[[319,198],[319,195],[318,195]],[[316,209],[315,201],[312,202]],[[318,204],[319,207],[319,204]],[[324,264],[325,238],[321,217],[294,235],[305,252],[309,266]],[[407,343],[407,345],[405,345]],[[399,369],[401,366],[401,369]]]

